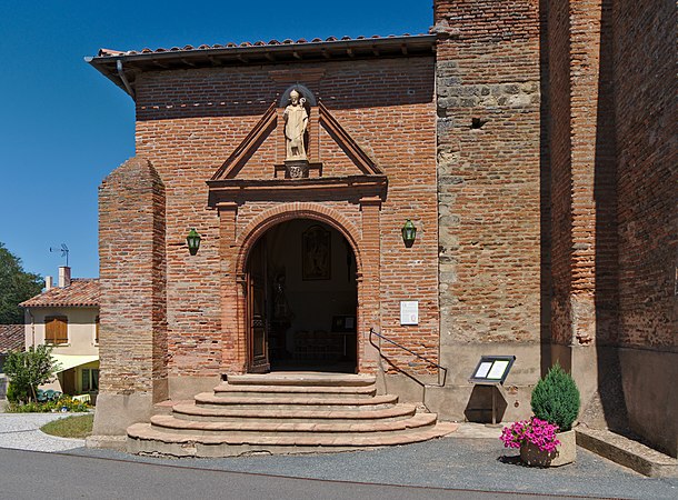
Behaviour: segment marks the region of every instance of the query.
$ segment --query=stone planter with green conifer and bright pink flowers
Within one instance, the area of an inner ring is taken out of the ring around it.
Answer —
[[[575,380],[556,363],[532,390],[535,416],[503,428],[503,446],[520,448],[520,460],[528,466],[558,467],[574,462],[577,441],[572,423],[579,406]]]

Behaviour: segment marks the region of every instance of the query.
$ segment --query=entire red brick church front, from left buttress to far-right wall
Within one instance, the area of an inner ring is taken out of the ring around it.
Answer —
[[[559,360],[582,420],[675,456],[658,422],[676,398],[646,369],[678,366],[675,2],[433,3],[431,36],[96,58],[137,102],[137,158],[100,193],[102,391],[157,400],[247,371],[250,252],[305,219],[352,252],[358,371],[378,370],[375,328],[449,369],[429,408],[475,419],[479,354],[516,354],[510,420]],[[313,101],[301,181],[282,174],[293,86]],[[400,324],[402,300],[419,301],[417,326]],[[382,353],[387,372],[431,372]]]

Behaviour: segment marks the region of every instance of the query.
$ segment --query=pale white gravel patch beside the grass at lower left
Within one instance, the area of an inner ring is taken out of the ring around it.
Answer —
[[[0,448],[33,451],[81,448],[84,446],[82,439],[57,438],[40,430],[47,422],[70,414],[72,413],[0,413]]]

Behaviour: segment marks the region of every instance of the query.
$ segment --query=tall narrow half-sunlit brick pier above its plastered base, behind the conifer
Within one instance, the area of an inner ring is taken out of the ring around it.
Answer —
[[[617,334],[611,31],[600,1],[549,2],[552,340]]]

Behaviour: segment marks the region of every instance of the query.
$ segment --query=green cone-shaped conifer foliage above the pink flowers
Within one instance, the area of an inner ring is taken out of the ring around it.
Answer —
[[[568,431],[579,414],[579,390],[572,377],[556,362],[535,386],[531,399],[535,417]]]

